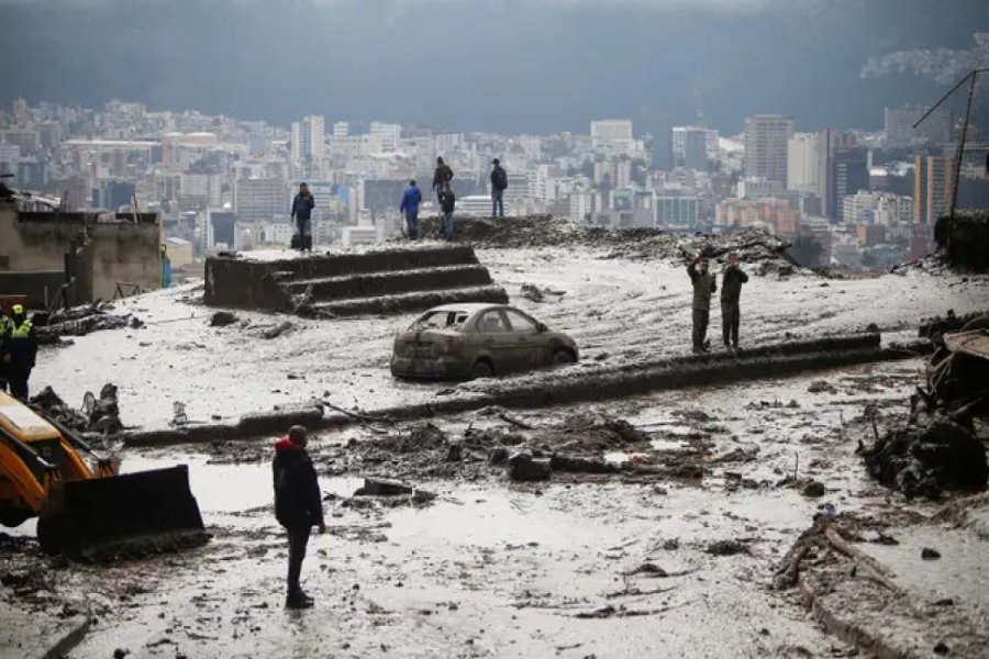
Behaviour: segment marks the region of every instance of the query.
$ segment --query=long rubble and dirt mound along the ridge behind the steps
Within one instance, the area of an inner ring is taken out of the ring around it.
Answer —
[[[579,245],[607,250],[618,258],[665,258],[688,260],[697,254],[723,260],[737,252],[743,263],[760,264],[760,275],[791,275],[800,266],[789,256],[790,245],[756,228],[724,235],[684,236],[656,227],[608,228],[577,224],[552,215],[516,217],[456,217],[455,241],[485,248],[559,247]],[[422,221],[422,233],[440,238],[437,217]]]

